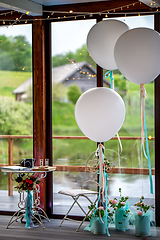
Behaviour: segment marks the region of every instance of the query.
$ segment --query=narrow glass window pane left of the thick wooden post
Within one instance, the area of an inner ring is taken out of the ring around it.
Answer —
[[[1,166],[20,164],[23,158],[33,157],[31,45],[30,24],[0,27]],[[0,210],[18,208],[19,196],[11,183],[8,174],[0,171]]]

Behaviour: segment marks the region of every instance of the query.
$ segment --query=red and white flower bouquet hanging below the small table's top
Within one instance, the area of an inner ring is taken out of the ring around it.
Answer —
[[[37,177],[35,177],[34,175],[27,175],[25,173],[23,174],[19,174],[16,178],[16,187],[18,189],[18,191],[31,191],[35,189],[36,184],[40,183],[40,180]]]

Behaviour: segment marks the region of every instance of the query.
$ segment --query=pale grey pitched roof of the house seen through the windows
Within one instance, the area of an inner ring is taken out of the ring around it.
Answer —
[[[66,65],[52,68],[52,82],[62,83],[66,81],[67,78],[70,78],[72,75],[74,75],[77,71],[79,71],[84,66],[88,67],[88,69],[90,69],[94,74],[96,74],[96,70],[87,62],[77,62],[72,64],[69,63]],[[103,79],[103,81],[107,85],[110,85],[110,82],[105,78]],[[31,84],[32,84],[32,77],[30,77],[20,86],[18,86],[16,89],[14,89],[13,94],[26,92],[26,89],[28,89]]]

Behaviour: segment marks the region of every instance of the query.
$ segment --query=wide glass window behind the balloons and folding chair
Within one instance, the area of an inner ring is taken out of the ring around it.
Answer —
[[[127,17],[120,20],[130,28],[153,28],[154,25],[153,16]],[[84,91],[96,86],[96,66],[86,46],[87,34],[95,23],[92,20],[52,23],[53,161],[55,165],[63,166],[59,168],[60,171],[54,172],[54,214],[66,214],[71,205],[71,198],[59,195],[58,191],[79,188],[83,182],[83,173],[79,172],[78,168],[76,172],[72,172],[71,168],[66,171],[65,166],[84,166],[88,156],[97,148],[96,143],[91,140],[73,138],[83,136],[74,116],[76,100]],[[80,39],[83,39],[81,43]],[[104,75],[106,71],[104,70]],[[154,202],[154,194],[150,194],[149,176],[144,175],[143,171],[143,168],[148,168],[148,162],[143,155],[141,140],[129,139],[141,137],[139,86],[125,79],[119,70],[113,73],[116,91],[123,98],[126,107],[126,117],[119,136],[126,138],[122,138],[121,143],[118,140],[104,143],[105,156],[111,162],[113,170],[119,168],[118,173],[109,174],[108,195],[119,196],[121,188],[123,195],[129,195],[132,205],[141,195]],[[151,139],[149,149],[151,165],[154,168],[154,83],[145,85],[145,88],[147,130]],[[63,138],[64,136],[72,136],[72,139]],[[123,168],[133,171],[124,174]],[[135,169],[138,169],[137,172]],[[154,176],[152,177],[154,185]],[[92,186],[92,189],[95,187]],[[75,207],[71,214],[83,213]]]

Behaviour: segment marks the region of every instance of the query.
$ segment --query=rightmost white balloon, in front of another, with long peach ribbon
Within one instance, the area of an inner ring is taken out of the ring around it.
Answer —
[[[117,40],[114,56],[129,81],[149,83],[160,73],[160,35],[150,28],[129,30]]]

